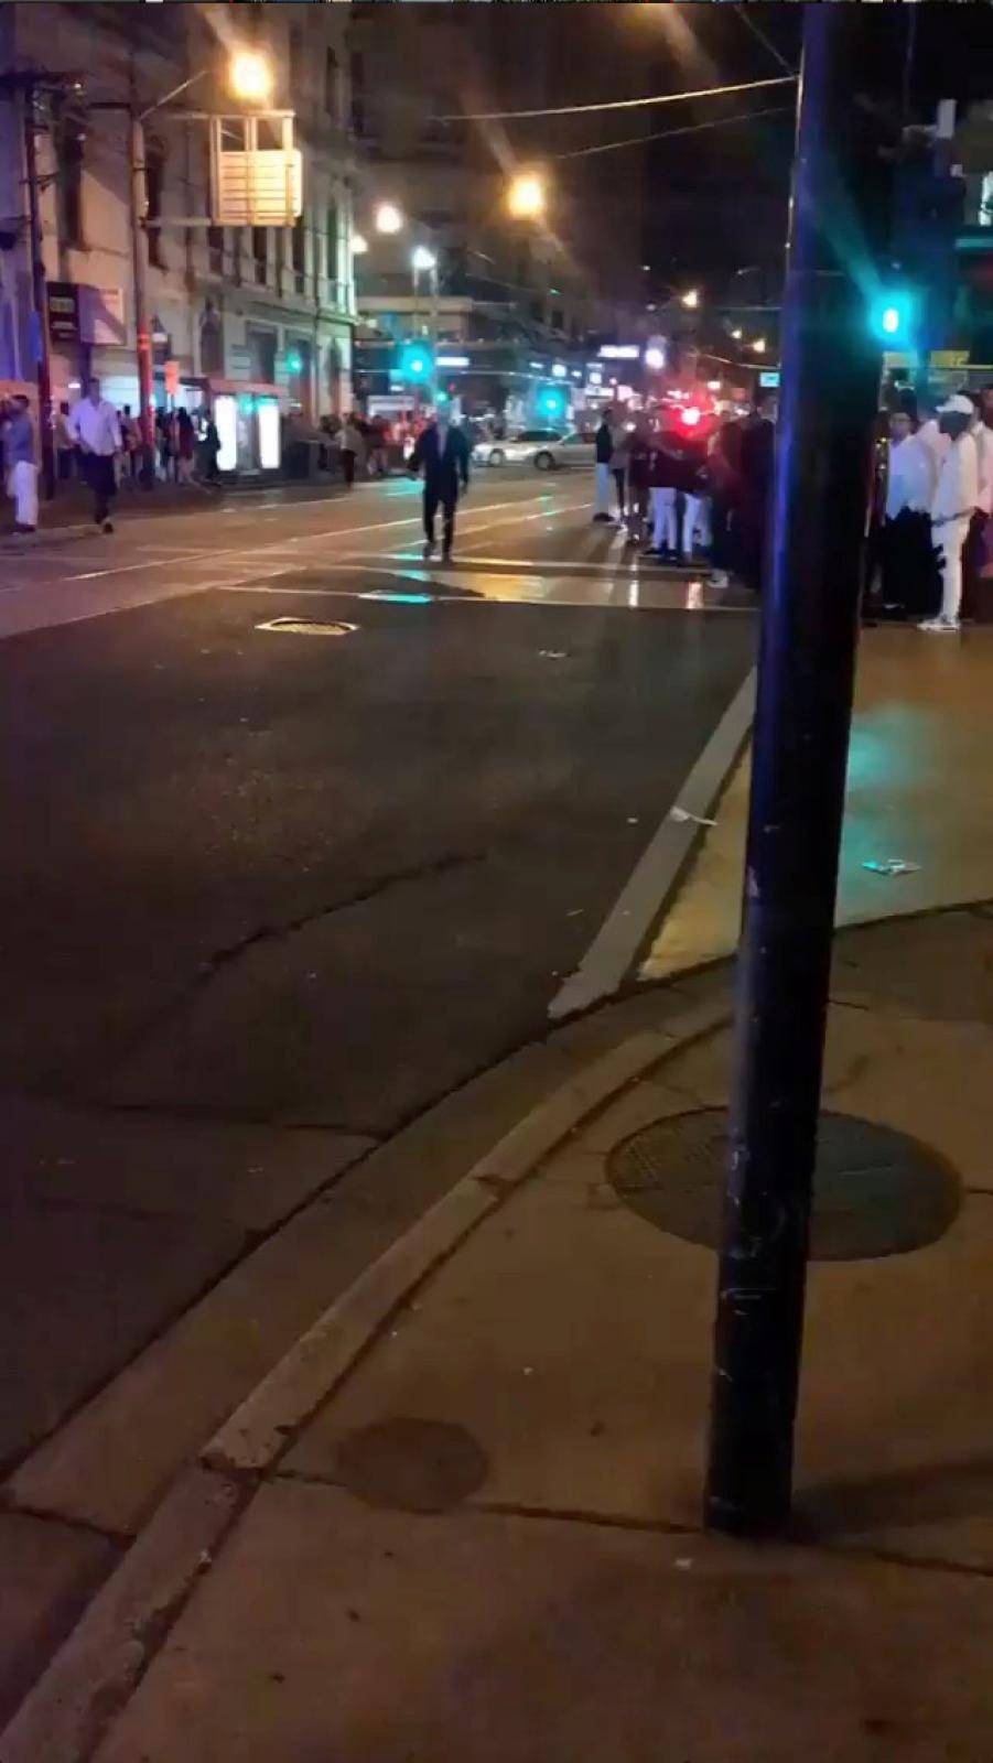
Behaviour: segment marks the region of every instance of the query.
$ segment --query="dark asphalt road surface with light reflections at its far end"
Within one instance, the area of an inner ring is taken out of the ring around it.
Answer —
[[[453,569],[390,483],[4,554],[0,621],[11,1460],[300,1199],[169,1134],[383,1139],[545,1033],[755,626],[496,472]]]

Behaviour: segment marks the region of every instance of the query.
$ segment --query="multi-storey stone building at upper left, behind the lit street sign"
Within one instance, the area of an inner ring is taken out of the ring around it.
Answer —
[[[35,372],[23,78],[35,72],[44,76],[35,141],[53,397],[72,397],[93,372],[116,404],[138,407],[129,187],[138,109],[146,113],[139,249],[157,398],[166,383],[187,404],[208,383],[261,384],[310,420],[349,407],[346,26],[347,7],[337,5],[0,7],[0,379]],[[206,116],[236,116],[228,69],[245,46],[272,67],[270,108],[296,113],[303,213],[291,227],[205,224]]]

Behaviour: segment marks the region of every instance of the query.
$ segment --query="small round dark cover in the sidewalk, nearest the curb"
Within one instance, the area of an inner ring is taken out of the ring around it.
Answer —
[[[464,1426],[393,1419],[360,1426],[337,1449],[337,1479],[367,1506],[444,1513],[487,1479],[487,1456]]]

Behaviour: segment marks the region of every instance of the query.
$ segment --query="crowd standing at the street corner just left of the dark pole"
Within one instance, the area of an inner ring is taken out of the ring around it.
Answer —
[[[647,557],[691,562],[707,554],[713,585],[727,587],[734,571],[758,592],[776,411],[776,393],[765,390],[748,414],[720,423],[691,405],[640,411],[633,421],[607,411],[594,439],[593,518],[617,520]]]

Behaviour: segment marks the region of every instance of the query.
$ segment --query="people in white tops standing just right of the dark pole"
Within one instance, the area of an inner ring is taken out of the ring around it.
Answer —
[[[937,635],[989,617],[993,384],[938,405],[908,395],[889,416],[870,555],[870,605],[882,617]]]

